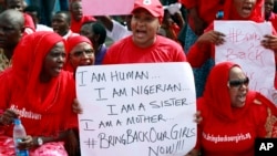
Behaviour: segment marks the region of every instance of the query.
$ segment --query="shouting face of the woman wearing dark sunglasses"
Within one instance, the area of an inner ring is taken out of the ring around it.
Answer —
[[[242,69],[234,66],[229,72],[229,96],[233,107],[243,107],[246,101],[246,94],[248,92],[248,77],[244,74]]]

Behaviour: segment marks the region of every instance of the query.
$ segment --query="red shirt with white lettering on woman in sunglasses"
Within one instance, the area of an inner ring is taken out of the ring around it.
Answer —
[[[248,111],[234,121],[219,118],[211,107],[203,107],[199,101],[198,107],[204,119],[197,137],[205,156],[254,156],[255,138],[266,135],[265,106],[252,102]]]

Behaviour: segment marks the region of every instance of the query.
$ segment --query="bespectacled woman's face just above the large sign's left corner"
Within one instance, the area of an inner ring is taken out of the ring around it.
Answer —
[[[94,61],[94,50],[92,45],[86,42],[76,44],[70,52],[70,63],[74,70],[76,70],[78,66],[92,65]]]

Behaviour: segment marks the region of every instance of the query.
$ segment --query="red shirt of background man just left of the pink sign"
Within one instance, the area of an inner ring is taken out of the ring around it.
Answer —
[[[74,33],[80,33],[82,24],[89,21],[96,21],[96,19],[93,18],[92,15],[83,15],[80,21],[75,21],[74,18],[71,18],[70,29]]]

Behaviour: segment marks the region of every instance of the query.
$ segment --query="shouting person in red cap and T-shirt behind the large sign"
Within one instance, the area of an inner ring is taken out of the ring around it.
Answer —
[[[164,17],[160,0],[136,0],[132,14],[133,34],[110,46],[103,64],[186,61],[178,43],[156,34]]]

